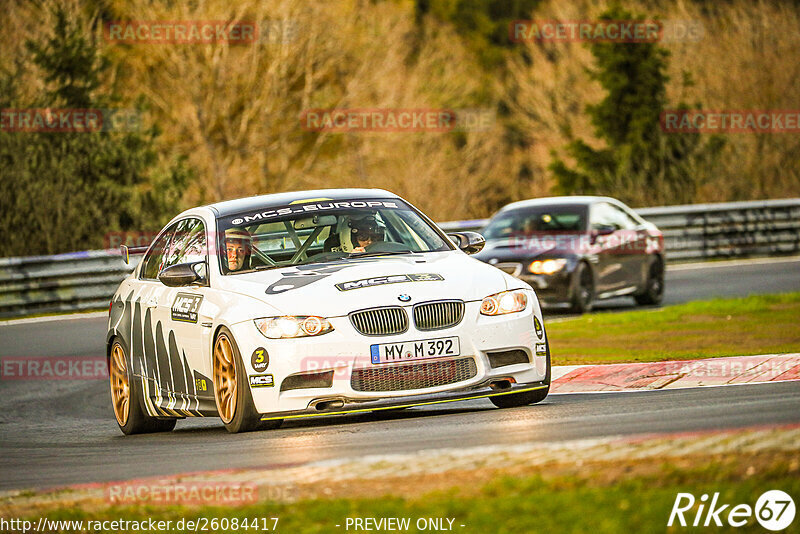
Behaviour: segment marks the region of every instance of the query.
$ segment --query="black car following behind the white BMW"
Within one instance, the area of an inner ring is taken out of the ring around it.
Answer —
[[[582,313],[596,300],[664,295],[664,238],[622,202],[550,197],[501,209],[482,231],[474,257],[528,282],[541,300]]]

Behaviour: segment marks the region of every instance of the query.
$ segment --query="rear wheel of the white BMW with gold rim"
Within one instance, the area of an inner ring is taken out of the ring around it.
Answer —
[[[108,376],[111,407],[119,429],[125,435],[171,431],[178,420],[148,415],[144,408],[142,381],[131,380],[129,361],[122,342],[115,338],[108,358]]]

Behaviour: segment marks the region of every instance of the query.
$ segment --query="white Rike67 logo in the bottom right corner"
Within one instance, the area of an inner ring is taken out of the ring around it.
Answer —
[[[705,493],[699,500],[691,493],[679,493],[672,505],[667,526],[671,527],[677,520],[682,527],[721,527],[725,523],[732,527],[743,527],[752,524],[752,517],[755,516],[762,527],[777,532],[792,524],[795,512],[794,500],[781,490],[765,491],[755,507],[720,502],[718,492],[714,493],[710,502]]]

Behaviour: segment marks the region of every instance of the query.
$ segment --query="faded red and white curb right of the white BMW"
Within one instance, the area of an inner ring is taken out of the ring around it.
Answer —
[[[800,353],[553,367],[551,393],[644,391],[800,380]]]

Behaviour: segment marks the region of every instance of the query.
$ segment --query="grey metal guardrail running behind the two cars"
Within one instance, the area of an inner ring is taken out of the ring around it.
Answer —
[[[800,253],[800,198],[636,210],[664,232],[667,261]],[[440,223],[483,228],[488,219]],[[0,317],[103,309],[131,270],[118,251],[0,258]]]

